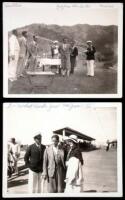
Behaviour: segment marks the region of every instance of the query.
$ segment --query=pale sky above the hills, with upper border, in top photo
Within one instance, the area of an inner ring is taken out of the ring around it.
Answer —
[[[32,23],[118,25],[121,4],[4,3],[3,24],[8,30]]]

